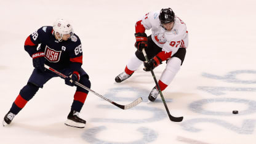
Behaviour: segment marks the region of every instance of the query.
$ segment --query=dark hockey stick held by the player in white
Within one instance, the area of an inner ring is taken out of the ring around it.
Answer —
[[[144,57],[146,59],[146,62],[148,62],[148,56],[146,55],[145,49],[142,49],[142,52],[143,52],[143,55],[144,55]],[[151,71],[151,74],[153,76],[154,82],[156,83],[156,87],[158,88],[158,91],[159,91],[159,93],[161,95],[162,102],[164,103],[164,107],[166,108],[166,111],[167,111],[167,114],[168,114],[168,116],[170,118],[170,121],[181,122],[183,120],[183,116],[181,116],[181,117],[174,117],[174,116],[172,116],[170,114],[170,111],[169,111],[169,109],[168,109],[168,107],[166,105],[166,100],[164,100],[164,95],[162,95],[162,90],[160,89],[158,81],[156,80],[156,76],[154,75],[154,71],[152,69],[150,69],[150,71]]]

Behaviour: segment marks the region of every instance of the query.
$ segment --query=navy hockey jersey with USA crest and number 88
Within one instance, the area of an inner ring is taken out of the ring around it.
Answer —
[[[30,57],[44,52],[46,65],[56,70],[70,68],[71,71],[78,71],[81,68],[82,45],[76,34],[67,41],[59,42],[55,39],[52,26],[42,26],[26,38],[24,47]]]

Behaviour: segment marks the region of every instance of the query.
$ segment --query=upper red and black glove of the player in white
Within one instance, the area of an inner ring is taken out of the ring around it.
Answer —
[[[134,46],[138,49],[139,52],[142,52],[142,49],[148,47],[148,38],[145,33],[135,33],[136,42]]]

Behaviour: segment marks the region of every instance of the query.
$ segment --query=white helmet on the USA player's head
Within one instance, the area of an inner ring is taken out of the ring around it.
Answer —
[[[64,20],[63,18],[59,18],[54,22],[54,34],[56,33],[60,34],[60,38],[58,38],[58,41],[62,41],[63,34],[70,34],[70,36],[73,36],[73,27],[70,25],[70,22],[67,20]]]

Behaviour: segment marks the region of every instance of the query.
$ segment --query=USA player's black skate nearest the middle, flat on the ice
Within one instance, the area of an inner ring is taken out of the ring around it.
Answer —
[[[78,111],[71,110],[70,114],[68,114],[68,120],[66,120],[65,125],[76,128],[84,128],[86,126],[86,121],[79,118],[78,114]]]

